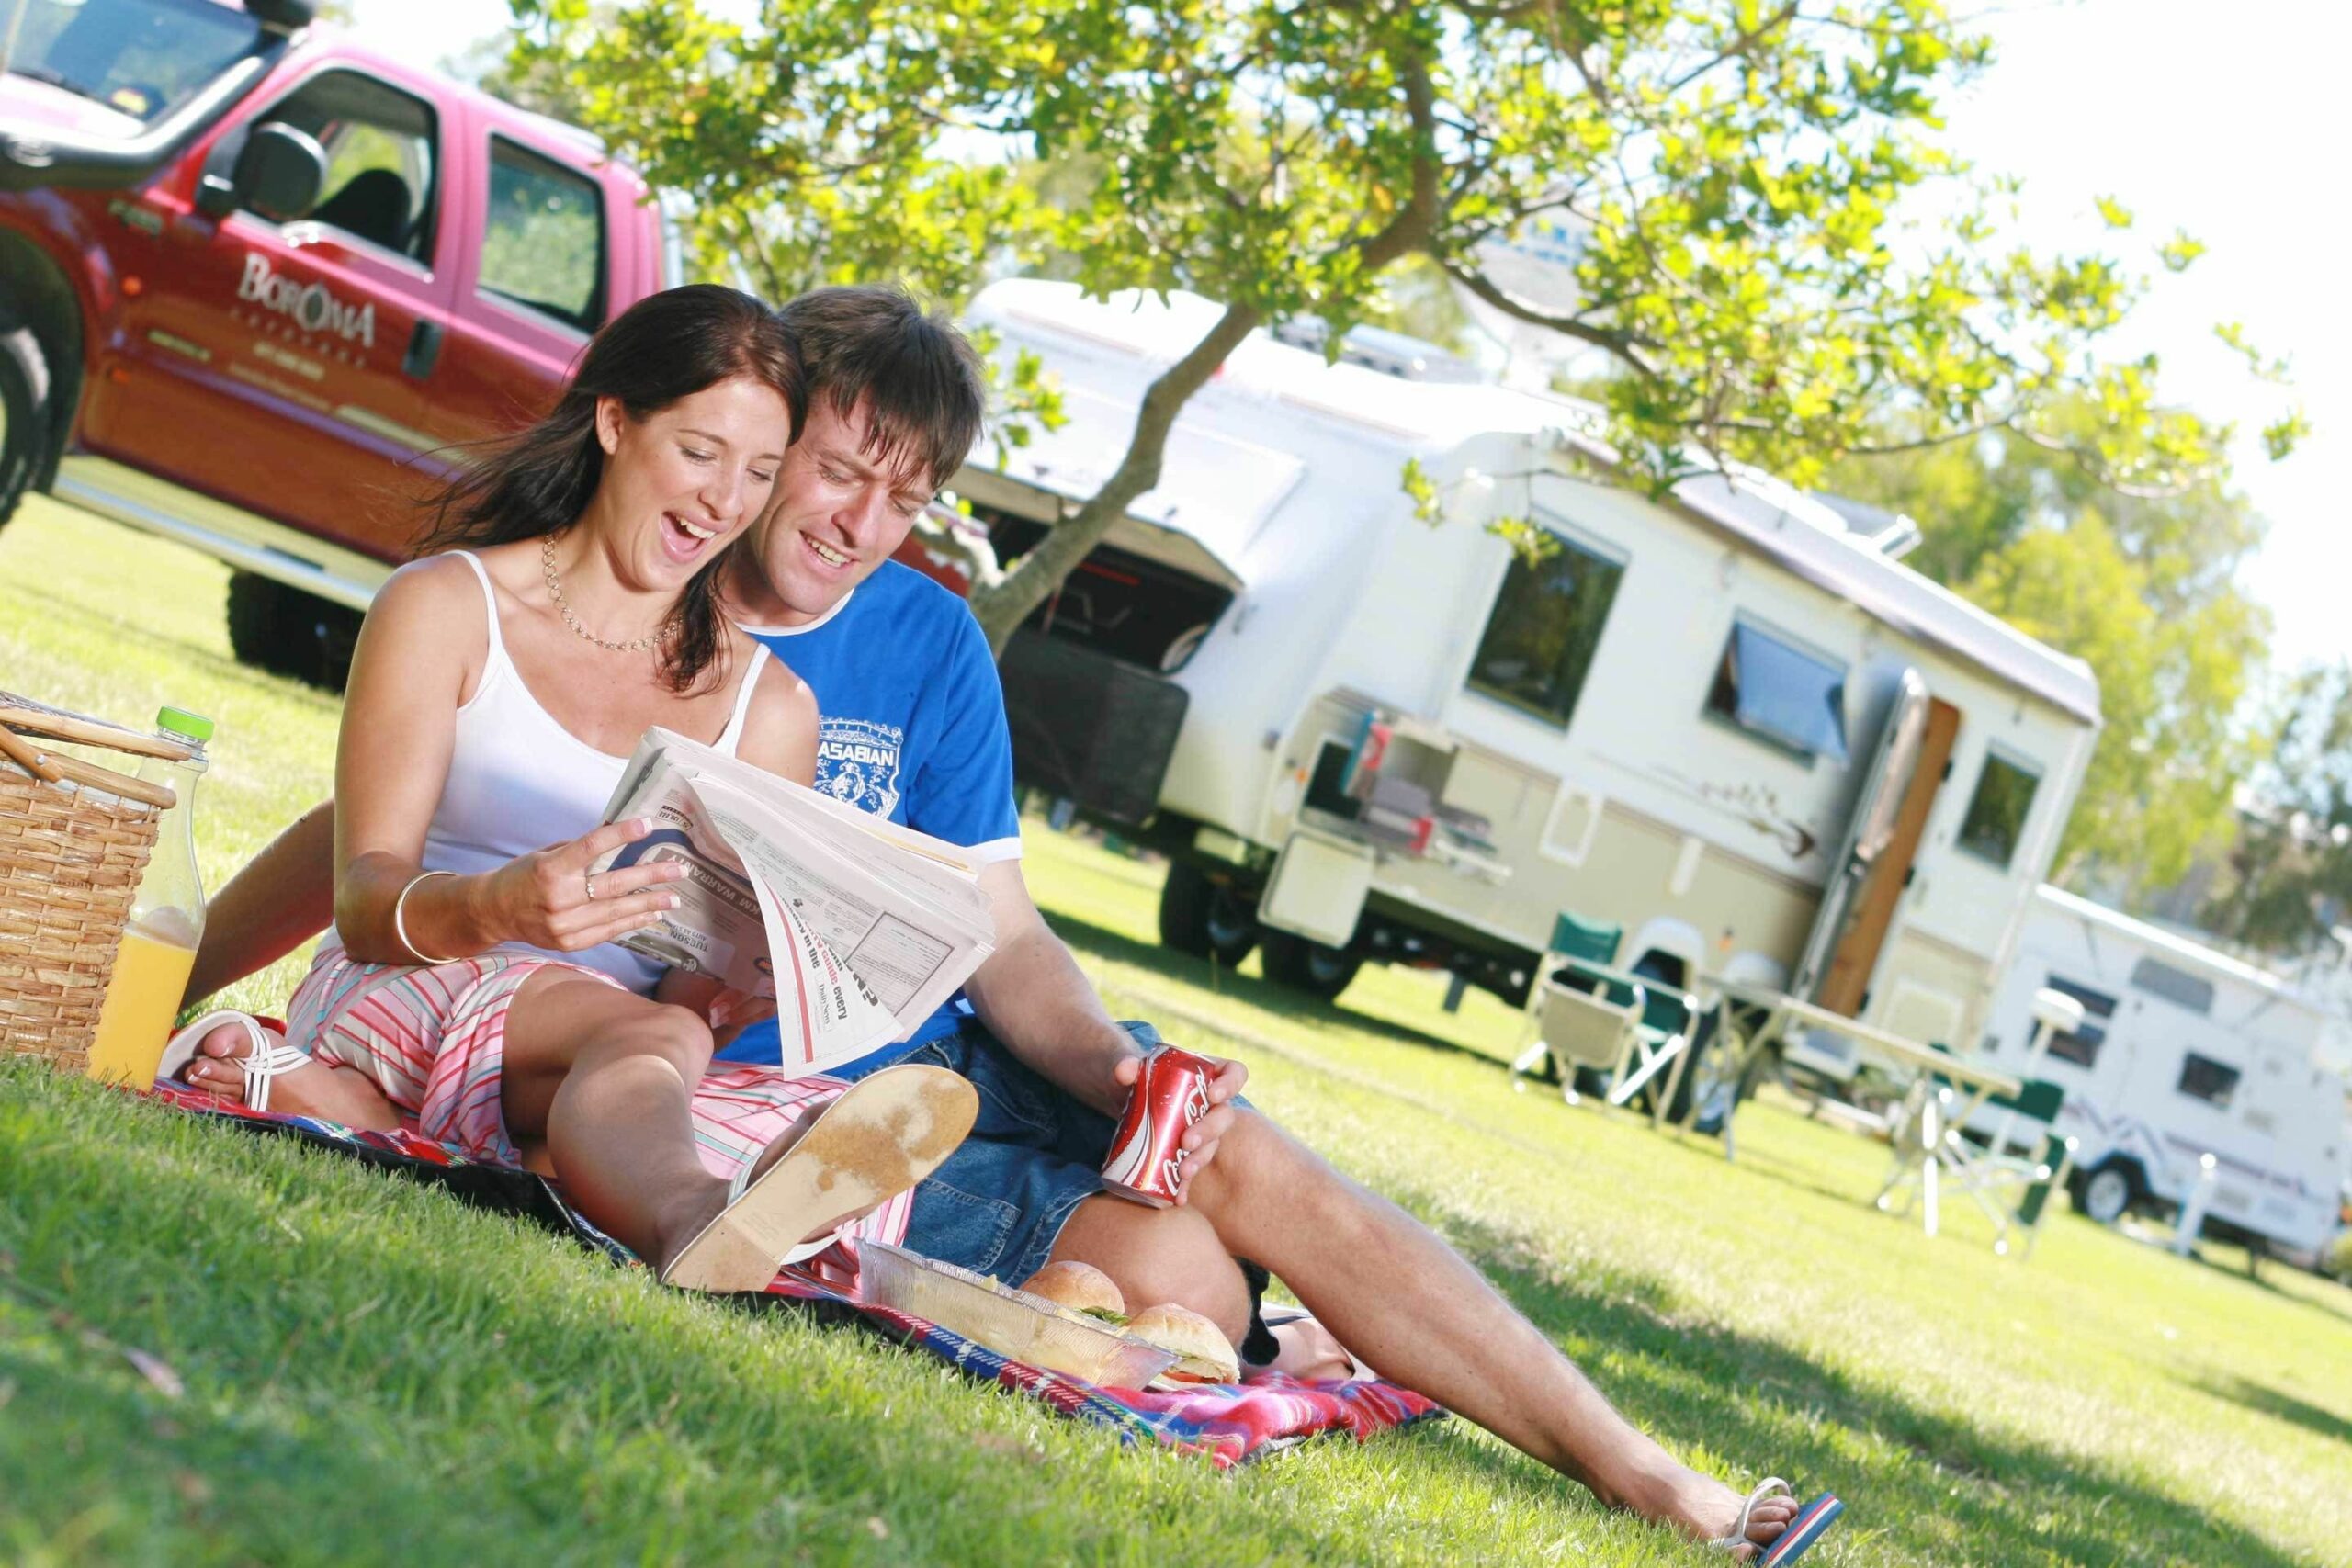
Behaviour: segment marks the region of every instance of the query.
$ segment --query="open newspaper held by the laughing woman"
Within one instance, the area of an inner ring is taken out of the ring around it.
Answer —
[[[593,870],[682,860],[661,924],[621,945],[776,997],[783,1065],[906,1039],[995,950],[978,865],[668,729],[647,729],[604,820],[654,830]]]

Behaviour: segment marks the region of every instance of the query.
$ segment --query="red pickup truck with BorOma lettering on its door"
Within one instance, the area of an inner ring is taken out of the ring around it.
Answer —
[[[586,132],[308,0],[24,0],[0,78],[0,520],[228,562],[240,658],[339,684],[412,501],[677,275]]]

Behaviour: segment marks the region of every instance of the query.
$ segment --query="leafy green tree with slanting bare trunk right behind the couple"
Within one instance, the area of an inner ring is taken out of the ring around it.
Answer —
[[[515,71],[560,73],[694,197],[713,270],[957,301],[1058,254],[1089,292],[1221,301],[1103,487],[974,595],[1000,646],[1157,482],[1183,402],[1249,331],[1312,313],[1336,350],[1416,259],[1613,364],[1632,484],[1724,458],[1802,484],[1985,430],[2065,442],[2060,400],[2096,411],[2077,449],[2112,482],[2218,463],[2152,362],[2096,357],[2131,268],[1994,244],[2006,188],[1933,141],[1938,94],[1985,59],[1940,0],[764,0],[743,26],[696,0],[513,5]],[[1021,179],[1037,160],[1068,176],[1051,195]],[[1957,216],[1922,223],[1929,188]],[[1538,216],[1581,235],[1573,301],[1491,275],[1489,244]]]

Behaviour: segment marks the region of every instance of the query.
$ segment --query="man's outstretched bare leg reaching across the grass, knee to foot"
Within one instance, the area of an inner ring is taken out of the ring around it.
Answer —
[[[1609,1507],[1700,1540],[1738,1521],[1738,1493],[1637,1432],[1461,1253],[1265,1117],[1235,1119],[1188,1206],[1383,1378],[1475,1420]],[[1778,1537],[1795,1512],[1785,1497],[1759,1502],[1748,1537]]]

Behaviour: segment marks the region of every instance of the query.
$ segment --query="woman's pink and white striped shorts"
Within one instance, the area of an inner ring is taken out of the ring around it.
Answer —
[[[522,952],[485,952],[454,964],[360,964],[322,947],[287,1004],[287,1041],[313,1058],[358,1067],[416,1119],[416,1131],[475,1159],[520,1166],[499,1098],[506,1063],[506,1009],[541,969],[626,990],[583,964]],[[720,1180],[753,1164],[811,1107],[847,1088],[821,1072],[786,1077],[781,1067],[713,1063],[694,1088],[694,1152]],[[903,1241],[915,1194],[842,1227],[849,1237]]]

